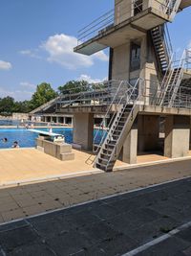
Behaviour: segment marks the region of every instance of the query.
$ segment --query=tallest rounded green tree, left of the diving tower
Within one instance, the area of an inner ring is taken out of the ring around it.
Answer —
[[[34,109],[40,105],[46,104],[53,100],[57,96],[57,93],[53,90],[50,83],[42,82],[36,87],[36,91],[32,95],[30,101],[30,108]]]

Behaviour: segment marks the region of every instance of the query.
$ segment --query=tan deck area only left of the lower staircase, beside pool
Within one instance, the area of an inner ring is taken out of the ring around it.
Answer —
[[[95,169],[86,164],[88,152],[75,151],[74,161],[60,161],[35,149],[13,149],[0,151],[0,186],[60,175],[80,175]]]

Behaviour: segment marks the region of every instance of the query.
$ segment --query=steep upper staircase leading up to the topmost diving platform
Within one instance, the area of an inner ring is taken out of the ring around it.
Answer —
[[[152,29],[151,36],[153,39],[160,72],[164,74],[168,68],[169,61],[173,53],[172,44],[166,24]]]

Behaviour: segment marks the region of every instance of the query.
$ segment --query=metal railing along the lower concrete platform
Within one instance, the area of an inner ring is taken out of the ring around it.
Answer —
[[[191,84],[191,79],[189,80]],[[122,83],[122,85],[121,85]],[[138,99],[140,105],[159,105],[159,97],[161,89],[159,81],[152,80],[138,80]],[[120,86],[120,93],[118,97],[123,95],[124,91],[128,88],[132,88],[128,81],[105,81],[102,83],[88,84],[86,86],[71,88],[70,90],[63,91],[57,101],[56,110],[64,111],[68,107],[74,106],[108,106],[113,103],[116,104],[114,96],[116,95],[117,89]],[[166,95],[166,101],[162,106],[168,106],[172,98],[172,93],[169,92]],[[133,105],[135,98],[130,99],[129,105]],[[160,105],[161,106],[161,105]],[[182,82],[180,88],[176,94],[176,98],[173,102],[172,107],[187,108],[191,109],[191,89],[190,86],[185,86]],[[115,109],[113,109],[115,110]]]

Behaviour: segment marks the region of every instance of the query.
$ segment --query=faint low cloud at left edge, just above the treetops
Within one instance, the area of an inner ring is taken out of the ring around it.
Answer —
[[[16,101],[25,101],[31,99],[32,92],[26,90],[6,90],[5,88],[0,87],[0,98],[7,96],[11,96]]]

